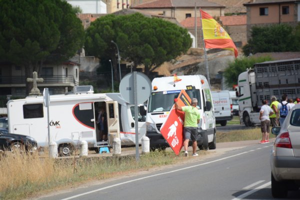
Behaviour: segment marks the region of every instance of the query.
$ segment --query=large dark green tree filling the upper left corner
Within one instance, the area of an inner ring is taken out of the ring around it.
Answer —
[[[0,0],[0,61],[23,66],[26,77],[45,60],[68,59],[83,42],[81,21],[66,1]]]

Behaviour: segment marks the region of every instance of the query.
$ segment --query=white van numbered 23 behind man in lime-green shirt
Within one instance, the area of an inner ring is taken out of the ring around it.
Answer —
[[[210,88],[203,75],[182,75],[174,82],[173,76],[152,80],[152,92],[147,103],[146,136],[150,139],[150,149],[164,149],[169,145],[160,133],[160,127],[178,96],[184,89],[190,98],[198,99],[200,122],[198,124],[197,145],[203,149],[215,148],[215,119]],[[190,142],[191,144],[191,142]]]

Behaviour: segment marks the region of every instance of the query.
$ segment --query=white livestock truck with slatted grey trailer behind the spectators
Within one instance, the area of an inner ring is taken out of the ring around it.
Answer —
[[[288,98],[300,96],[300,58],[255,63],[253,68],[238,75],[239,118],[246,126],[259,121],[261,100],[282,94]]]

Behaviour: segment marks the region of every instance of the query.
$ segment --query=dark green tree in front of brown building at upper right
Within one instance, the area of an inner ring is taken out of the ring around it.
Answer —
[[[299,37],[293,28],[285,23],[270,26],[254,26],[251,29],[251,38],[242,47],[243,53],[249,55],[257,52],[284,52],[298,51]]]

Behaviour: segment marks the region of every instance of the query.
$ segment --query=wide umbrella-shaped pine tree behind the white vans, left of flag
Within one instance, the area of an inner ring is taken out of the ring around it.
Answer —
[[[116,46],[111,40],[117,43],[122,59],[133,62],[133,70],[143,64],[146,74],[186,52],[191,45],[186,29],[160,18],[140,13],[102,16],[86,30],[85,52],[106,62],[111,59],[115,71]]]

